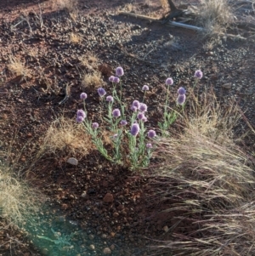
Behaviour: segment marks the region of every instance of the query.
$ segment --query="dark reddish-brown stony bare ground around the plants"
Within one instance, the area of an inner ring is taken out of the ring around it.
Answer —
[[[198,5],[197,1],[175,3]],[[166,226],[173,227],[173,232],[175,223],[169,214],[156,214],[167,205],[151,205],[151,191],[158,188],[152,190],[150,177],[112,165],[94,149],[82,155],[66,147],[44,151],[39,157],[43,138],[57,118],[75,120],[77,109],[83,107],[79,95],[84,91],[88,94],[88,119],[102,120],[96,88],[100,83],[111,91],[108,77],[118,65],[125,71],[123,97],[128,103],[142,100],[142,86],[150,86],[145,98],[148,126],[156,126],[162,117],[166,78],[174,80],[170,101],[174,105],[178,87],[192,86],[197,69],[204,73],[201,91],[213,87],[223,105],[235,99],[255,125],[254,31],[238,27],[231,31],[246,37],[245,41],[228,37],[207,40],[194,31],[118,15],[119,10],[154,17],[165,14],[160,1],[149,0],[81,0],[76,15],[56,9],[54,1],[38,5],[37,1],[6,0],[1,1],[0,9],[2,149],[11,148],[10,162],[19,156],[18,170],[27,171],[31,184],[49,198],[49,207],[37,216],[40,227],[27,227],[31,236],[25,231],[0,230],[0,255],[155,253],[150,249],[153,240],[171,236]],[[248,4],[247,9],[249,14],[238,9],[237,18],[253,20],[254,10]],[[75,35],[78,39],[71,40]],[[98,59],[96,65],[89,59],[92,55]],[[16,67],[23,72],[12,69],[13,60],[20,61]],[[99,80],[88,84],[84,77],[95,73],[100,74]],[[245,133],[247,128],[243,122],[236,133]],[[246,146],[252,144],[250,140]],[[70,157],[77,158],[77,166],[67,162]],[[181,230],[184,225],[176,227]],[[70,247],[61,251],[54,242],[37,237],[54,240],[51,228],[63,236],[73,233]],[[28,242],[31,240],[33,244]]]

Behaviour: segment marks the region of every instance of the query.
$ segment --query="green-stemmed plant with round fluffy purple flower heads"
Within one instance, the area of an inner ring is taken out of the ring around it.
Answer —
[[[123,101],[122,95],[122,76],[124,71],[121,66],[116,68],[116,76],[109,77],[112,83],[111,94],[107,95],[105,88],[98,88],[98,94],[102,107],[106,107],[106,115],[94,122],[88,121],[88,110],[86,100],[88,95],[82,93],[80,99],[83,101],[84,110],[77,111],[77,122],[84,125],[85,130],[91,135],[91,138],[97,150],[109,161],[127,166],[132,170],[147,167],[150,163],[151,152],[155,144],[153,140],[158,138],[156,129],[150,128],[147,131],[145,123],[148,122],[146,113],[148,106],[144,103],[148,85],[144,85],[141,90],[144,92],[142,102],[133,100],[131,106]],[[176,111],[168,111],[169,87],[173,85],[173,78],[166,80],[167,98],[164,107],[162,122],[158,122],[159,134],[166,135],[167,129],[176,120]],[[186,90],[178,88],[177,105],[184,105],[186,100]],[[107,131],[111,134],[111,144],[113,147],[105,147],[103,134]]]

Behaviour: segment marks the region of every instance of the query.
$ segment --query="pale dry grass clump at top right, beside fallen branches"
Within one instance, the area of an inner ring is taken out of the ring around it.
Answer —
[[[198,23],[207,35],[224,32],[234,21],[234,14],[228,0],[202,0]]]

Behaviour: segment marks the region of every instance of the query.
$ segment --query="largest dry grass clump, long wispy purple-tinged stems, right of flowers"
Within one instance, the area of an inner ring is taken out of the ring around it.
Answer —
[[[156,201],[168,202],[175,219],[172,239],[159,247],[175,256],[255,255],[254,171],[233,137],[240,115],[208,95],[193,104],[182,132],[160,139],[155,151]]]

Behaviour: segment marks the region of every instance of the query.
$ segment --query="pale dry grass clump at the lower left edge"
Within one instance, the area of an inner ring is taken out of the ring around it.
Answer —
[[[8,225],[22,226],[32,222],[40,210],[42,195],[31,188],[25,179],[14,174],[11,168],[0,168],[0,216]],[[3,225],[3,224],[2,224]],[[6,226],[0,225],[0,230]]]

